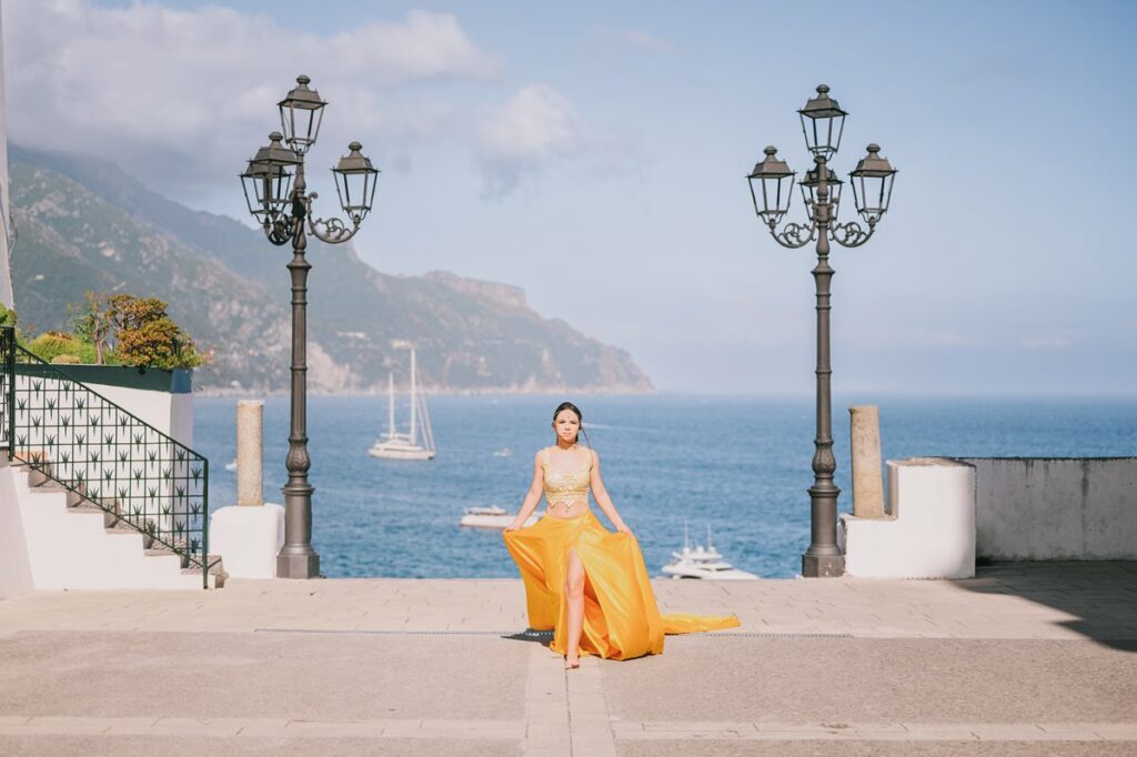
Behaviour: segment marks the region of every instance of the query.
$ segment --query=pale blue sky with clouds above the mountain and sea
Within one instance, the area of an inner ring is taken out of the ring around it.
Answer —
[[[384,170],[376,268],[522,286],[663,390],[810,392],[812,255],[744,175],[767,143],[807,167],[796,110],[824,82],[850,113],[835,169],[874,141],[901,172],[877,236],[832,256],[835,389],[1131,392],[1135,6],[808,8],[5,0],[8,123],[241,217],[234,174],[307,73],[309,164],[359,139]]]

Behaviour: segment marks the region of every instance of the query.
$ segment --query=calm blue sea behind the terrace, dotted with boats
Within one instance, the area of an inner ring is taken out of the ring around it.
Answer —
[[[464,508],[515,511],[533,452],[553,443],[562,397],[431,397],[438,456],[379,460],[385,397],[308,401],[313,544],[330,577],[511,577],[500,532],[458,527]],[[736,566],[767,577],[800,572],[810,542],[812,398],[656,394],[571,398],[584,414],[608,492],[659,574],[689,523],[712,530]],[[1137,455],[1137,398],[835,398],[840,509],[850,507],[848,413],[880,406],[883,457]],[[193,447],[210,460],[210,508],[235,504],[236,400],[196,398]],[[400,416],[408,410],[400,407]],[[282,502],[288,399],[265,404],[265,500]],[[495,456],[509,448],[511,457]],[[543,507],[543,505],[541,506]],[[594,508],[601,517],[599,509]]]

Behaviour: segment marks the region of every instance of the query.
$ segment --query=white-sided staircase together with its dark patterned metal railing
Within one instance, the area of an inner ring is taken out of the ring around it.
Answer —
[[[15,508],[2,524],[23,530],[34,588],[221,588],[208,460],[17,344],[10,327],[0,358],[0,500],[13,500],[0,508]]]

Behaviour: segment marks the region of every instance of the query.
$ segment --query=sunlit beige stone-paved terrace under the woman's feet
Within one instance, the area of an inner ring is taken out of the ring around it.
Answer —
[[[1137,755],[1137,564],[655,585],[742,627],[566,674],[520,581],[0,601],[0,754]]]

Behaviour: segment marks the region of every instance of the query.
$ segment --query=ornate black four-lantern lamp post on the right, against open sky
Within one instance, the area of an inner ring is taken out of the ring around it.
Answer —
[[[813,486],[810,488],[810,548],[802,555],[802,574],[836,576],[845,572],[845,556],[837,547],[837,497],[840,490],[833,484],[837,460],[833,458],[832,371],[829,367],[829,284],[833,269],[829,266],[829,242],[860,247],[869,241],[877,223],[888,210],[896,170],[880,157],[880,148],[870,144],[869,155],[849,173],[853,203],[868,227],[855,221],[838,224],[843,182],[830,170],[828,163],[840,145],[848,114],[830,99],[829,88],[824,84],[818,86],[818,97],[806,102],[798,113],[805,144],[816,164],[799,184],[808,223],[787,223],[779,231],[778,225],[789,210],[796,174],[778,159],[777,148],[765,149],[766,157],[754,166],[747,178],[750,181],[754,209],[779,244],[799,248],[814,240],[818,242],[818,265],[813,269],[818,297],[818,435],[813,441],[816,449],[813,455]]]

